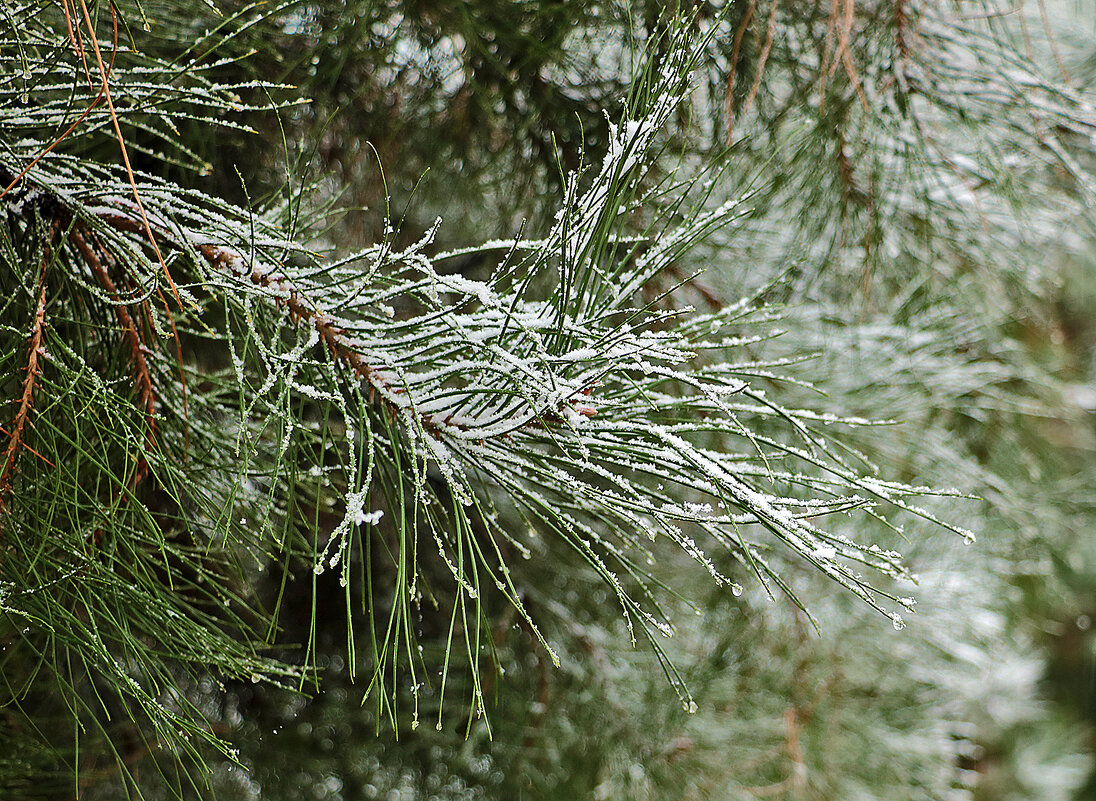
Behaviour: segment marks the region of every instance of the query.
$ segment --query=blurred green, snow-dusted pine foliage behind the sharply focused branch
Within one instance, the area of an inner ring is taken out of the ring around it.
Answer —
[[[216,58],[235,57],[218,77],[285,84],[271,90],[279,107],[247,119],[258,134],[179,123],[201,172],[151,155],[139,167],[306,216],[336,205],[322,238],[340,247],[368,245],[390,219],[413,241],[442,217],[443,249],[523,220],[544,230],[561,171],[604,157],[636,48],[667,10],[217,7],[146,0],[148,31],[130,18],[128,33],[167,58],[217,43]],[[653,655],[629,648],[590,568],[541,541],[516,580],[562,666],[500,605],[490,724],[450,710],[435,730],[424,709],[398,737],[350,682],[329,573],[319,689],[189,688],[248,768],[215,759],[216,798],[1096,798],[1096,8],[734,0],[695,14],[717,31],[664,158],[726,160],[711,202],[751,192],[752,210],[703,247],[706,272],[675,297],[719,305],[783,278],[769,291],[786,332],[766,353],[814,350],[824,397],[781,389],[895,421],[857,447],[903,480],[978,495],[933,507],[978,545],[927,525],[895,541],[920,580],[902,631],[807,571],[788,579],[818,631],[756,587],[683,603],[669,650],[689,713]],[[660,577],[704,581],[686,562],[660,553]],[[310,636],[306,583],[283,598],[287,642]],[[425,649],[444,645],[437,621],[420,625]],[[34,720],[60,711],[37,702],[0,726],[0,796],[69,792],[60,762],[27,745]],[[204,792],[164,782],[168,763],[137,745],[127,762],[147,798]],[[122,791],[94,758],[79,783],[91,800]]]

